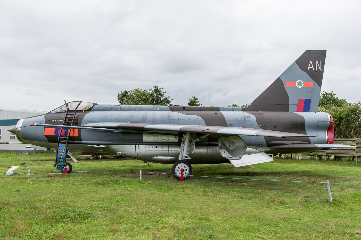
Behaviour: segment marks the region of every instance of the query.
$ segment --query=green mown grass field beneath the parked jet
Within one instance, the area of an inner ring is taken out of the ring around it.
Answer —
[[[22,154],[0,153],[0,169]],[[75,157],[81,158],[74,153]],[[47,160],[50,159],[50,160]],[[54,173],[53,153],[24,155],[1,174],[0,236],[19,239],[357,239],[361,164],[274,159],[235,168],[193,165],[199,181],[174,181],[172,165],[134,159],[79,160],[75,174]],[[31,164],[31,165],[30,165]],[[30,178],[27,177],[27,166]],[[118,172],[118,173],[92,173]],[[74,172],[73,172],[74,173]]]

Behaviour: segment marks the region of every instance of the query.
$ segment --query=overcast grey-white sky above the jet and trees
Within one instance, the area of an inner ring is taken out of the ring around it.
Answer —
[[[158,85],[186,105],[252,102],[306,49],[323,91],[361,99],[360,1],[0,1],[0,107],[117,103]]]

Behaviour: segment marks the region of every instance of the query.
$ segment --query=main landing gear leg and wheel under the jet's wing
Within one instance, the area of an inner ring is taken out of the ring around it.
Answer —
[[[203,135],[196,139],[195,133],[189,133],[183,135],[182,143],[181,143],[181,153],[179,154],[178,161],[173,164],[172,173],[173,176],[180,180],[183,174],[184,180],[187,180],[191,177],[193,169],[190,163],[188,163],[188,159],[191,159],[188,156],[189,153],[193,153],[195,148],[195,142],[202,140],[205,137],[208,137],[210,134]],[[190,151],[192,150],[192,151]],[[183,181],[183,180],[182,180]]]

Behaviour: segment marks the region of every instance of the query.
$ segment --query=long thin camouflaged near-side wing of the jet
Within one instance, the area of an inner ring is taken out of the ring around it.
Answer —
[[[193,132],[193,133],[214,133],[230,135],[248,135],[262,137],[314,137],[312,135],[286,133],[256,128],[239,128],[227,126],[200,126],[200,125],[176,125],[176,124],[151,124],[151,123],[89,123],[82,127],[101,129],[134,129],[143,131],[166,131],[166,132]]]

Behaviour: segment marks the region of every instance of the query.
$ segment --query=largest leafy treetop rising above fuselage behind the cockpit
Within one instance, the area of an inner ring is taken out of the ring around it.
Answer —
[[[121,105],[171,105],[170,97],[165,97],[166,92],[162,92],[163,88],[153,86],[147,90],[136,88],[134,90],[124,90],[118,94],[118,102]]]

